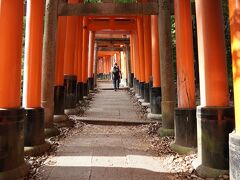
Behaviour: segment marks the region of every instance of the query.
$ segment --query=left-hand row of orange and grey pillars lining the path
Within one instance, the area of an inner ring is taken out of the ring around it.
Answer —
[[[45,138],[72,126],[66,114],[94,89],[87,18],[58,17],[58,1],[47,0],[44,25],[44,2],[27,0],[22,92],[24,0],[0,2],[0,179],[24,176],[24,155],[47,151]]]

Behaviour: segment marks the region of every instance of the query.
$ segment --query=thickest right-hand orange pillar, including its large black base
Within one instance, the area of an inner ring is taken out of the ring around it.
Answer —
[[[228,135],[233,130],[233,109],[228,102],[222,3],[196,0],[201,105],[197,107],[197,171],[203,176],[226,173]],[[225,170],[225,171],[224,171]],[[214,171],[216,172],[216,171]]]

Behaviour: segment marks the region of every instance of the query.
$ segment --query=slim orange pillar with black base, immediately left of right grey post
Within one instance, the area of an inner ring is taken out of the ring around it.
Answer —
[[[158,17],[151,16],[151,58],[152,58],[152,87],[150,94],[150,119],[160,119],[161,114],[161,82],[160,82],[160,54],[158,36]]]

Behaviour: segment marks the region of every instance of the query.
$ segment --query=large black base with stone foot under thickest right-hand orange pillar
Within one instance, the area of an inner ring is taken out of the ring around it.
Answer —
[[[216,178],[228,172],[228,135],[233,131],[232,107],[197,107],[197,173]]]

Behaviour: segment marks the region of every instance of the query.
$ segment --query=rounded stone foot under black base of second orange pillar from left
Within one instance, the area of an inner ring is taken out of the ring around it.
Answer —
[[[48,151],[49,148],[50,148],[50,143],[45,141],[43,144],[40,144],[40,145],[24,147],[24,155],[39,156],[44,154],[46,151]]]

